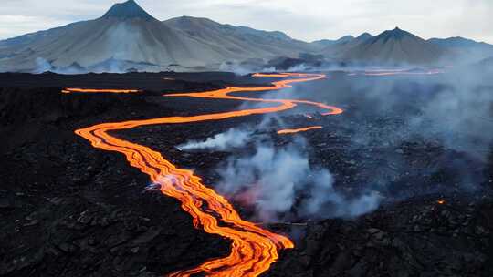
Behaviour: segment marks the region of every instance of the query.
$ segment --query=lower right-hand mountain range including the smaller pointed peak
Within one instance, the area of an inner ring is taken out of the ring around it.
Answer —
[[[470,63],[493,56],[493,46],[463,37],[425,40],[398,27],[378,36],[363,33],[338,40],[320,40],[320,54],[344,62],[381,65],[435,65],[442,61]]]

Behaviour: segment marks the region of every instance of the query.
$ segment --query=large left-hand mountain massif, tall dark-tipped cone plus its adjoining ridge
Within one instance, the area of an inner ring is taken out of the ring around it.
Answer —
[[[0,71],[149,65],[152,70],[216,69],[226,60],[296,56],[309,44],[281,32],[220,25],[186,17],[162,23],[135,1],[102,17],[0,42]],[[120,64],[120,66],[119,66]],[[46,66],[47,65],[47,66]],[[123,68],[125,69],[125,68]]]

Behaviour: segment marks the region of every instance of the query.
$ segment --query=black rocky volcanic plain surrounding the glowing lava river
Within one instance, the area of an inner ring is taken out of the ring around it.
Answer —
[[[455,79],[454,74],[350,77],[330,72],[328,80],[271,97],[325,102],[344,108],[342,115],[321,117],[300,107],[280,114],[282,122],[266,124],[254,116],[135,128],[117,136],[159,150],[212,187],[221,181],[216,169],[226,159],[247,155],[257,141],[283,149],[303,137],[310,166],[330,170],[336,190],[380,193],[380,208],[358,218],[306,217],[295,205],[279,216],[282,222],[264,223],[296,243],[264,276],[492,276],[488,129],[493,119],[481,114],[460,121],[464,114],[445,113],[443,121],[435,117],[450,109],[427,106],[445,101],[441,96],[450,91],[459,97],[444,81]],[[121,154],[93,149],[74,130],[237,109],[244,104],[162,95],[271,80],[227,73],[0,74],[0,276],[163,276],[225,256],[228,241],[194,229],[177,200],[145,190],[147,176]],[[63,87],[142,92],[61,94]],[[493,93],[489,84],[468,89],[478,96]],[[294,136],[276,132],[309,125],[323,129]],[[177,148],[231,128],[255,128],[253,141],[221,151]],[[254,208],[232,201],[244,217],[257,220]]]

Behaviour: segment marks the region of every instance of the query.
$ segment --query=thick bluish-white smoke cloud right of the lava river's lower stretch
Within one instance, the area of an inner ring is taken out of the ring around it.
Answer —
[[[376,193],[347,197],[335,190],[329,170],[313,169],[300,151],[305,148],[304,140],[287,149],[257,145],[253,155],[228,159],[224,168],[217,169],[222,179],[217,190],[254,207],[261,221],[293,216],[347,218],[378,208]]]

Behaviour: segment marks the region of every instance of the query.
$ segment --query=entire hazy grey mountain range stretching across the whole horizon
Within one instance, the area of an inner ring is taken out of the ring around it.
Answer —
[[[310,65],[326,61],[435,65],[444,58],[480,60],[493,46],[462,37],[424,40],[396,28],[378,36],[342,36],[307,43],[279,31],[220,24],[181,16],[157,20],[134,0],[116,4],[100,18],[0,41],[0,72],[201,71],[269,60]]]

